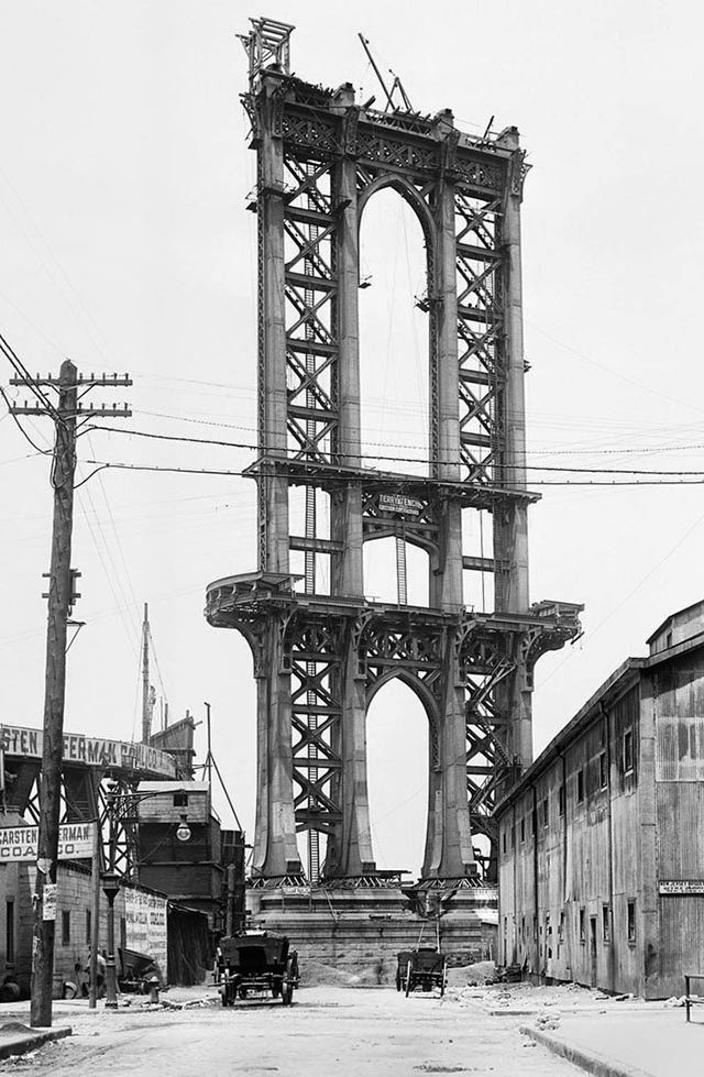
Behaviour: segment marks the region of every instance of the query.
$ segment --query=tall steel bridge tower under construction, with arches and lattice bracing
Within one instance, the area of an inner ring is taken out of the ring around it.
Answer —
[[[532,666],[579,630],[580,607],[528,598],[525,155],[513,128],[472,139],[450,112],[377,112],[349,85],[292,77],[290,29],[258,21],[245,39],[251,58],[277,50],[270,66],[251,63],[243,97],[257,153],[258,572],[211,584],[207,607],[255,657],[254,872],[297,877],[306,831],[314,875],[318,834],[328,877],[373,873],[366,708],[399,677],[430,728],[424,875],[466,876],[472,833],[493,840],[495,792],[530,760]],[[361,452],[359,228],[387,187],[416,213],[427,252],[427,479],[371,470]],[[468,548],[468,514],[491,515],[491,554]],[[363,543],[386,537],[397,543],[396,606],[364,597]],[[407,542],[428,554],[424,608],[406,604]],[[494,614],[464,606],[464,571],[493,573]]]

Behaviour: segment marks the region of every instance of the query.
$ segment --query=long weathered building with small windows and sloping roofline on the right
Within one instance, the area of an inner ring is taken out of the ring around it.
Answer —
[[[704,602],[648,644],[497,806],[498,954],[663,998],[704,969]]]

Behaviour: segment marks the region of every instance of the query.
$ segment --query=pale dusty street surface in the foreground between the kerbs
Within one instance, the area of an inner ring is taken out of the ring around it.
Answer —
[[[517,1019],[490,1016],[479,1003],[460,1005],[449,998],[415,993],[406,999],[393,989],[302,988],[290,1008],[248,1001],[224,1010],[215,998],[212,1005],[182,1011],[57,1008],[54,1023],[70,1023],[74,1036],[26,1060],[0,1064],[1,1071],[37,1077],[582,1073],[540,1046],[526,1045]]]

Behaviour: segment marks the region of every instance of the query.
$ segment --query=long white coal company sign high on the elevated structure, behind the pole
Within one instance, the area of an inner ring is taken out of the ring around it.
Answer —
[[[8,756],[42,758],[44,734],[16,725],[0,726],[0,748]],[[176,763],[165,751],[145,744],[124,740],[102,740],[77,733],[64,734],[64,762],[84,762],[91,767],[117,767],[121,770],[144,770],[160,778],[175,778]]]

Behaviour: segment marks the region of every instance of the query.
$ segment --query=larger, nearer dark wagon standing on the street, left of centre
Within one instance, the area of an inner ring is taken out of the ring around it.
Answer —
[[[298,954],[289,952],[285,935],[226,935],[218,945],[215,976],[223,1005],[267,996],[290,1005],[298,987]]]

